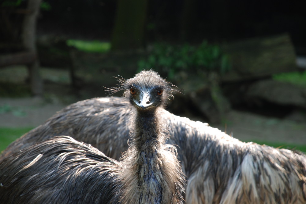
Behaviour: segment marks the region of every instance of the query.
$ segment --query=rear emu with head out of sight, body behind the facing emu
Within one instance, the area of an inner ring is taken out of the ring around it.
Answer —
[[[13,142],[0,160],[53,135],[68,134],[107,156],[128,149],[131,108],[125,98],[92,98],[62,109]],[[306,203],[306,156],[298,151],[244,143],[207,123],[160,114],[177,145],[188,180],[186,203]]]

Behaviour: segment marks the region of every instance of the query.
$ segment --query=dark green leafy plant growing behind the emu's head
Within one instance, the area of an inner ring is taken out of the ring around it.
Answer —
[[[206,41],[197,47],[189,44],[155,44],[147,59],[138,62],[138,71],[144,68],[154,68],[173,79],[174,74],[181,70],[195,74],[209,71],[224,74],[230,70],[230,62],[219,46]]]

